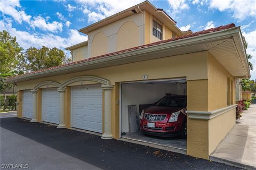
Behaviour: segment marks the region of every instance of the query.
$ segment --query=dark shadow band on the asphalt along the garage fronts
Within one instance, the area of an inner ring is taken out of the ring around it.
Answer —
[[[30,123],[17,117],[1,118],[0,121],[1,128],[102,169],[236,169],[170,151],[114,139],[102,140],[93,134]]]

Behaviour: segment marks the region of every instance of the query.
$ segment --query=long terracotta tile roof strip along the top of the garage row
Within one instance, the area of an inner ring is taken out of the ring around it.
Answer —
[[[108,54],[104,54],[104,55],[100,55],[100,56],[96,56],[96,57],[87,58],[87,59],[81,60],[81,61],[76,61],[76,62],[72,62],[72,63],[68,63],[68,64],[63,64],[63,65],[59,65],[59,66],[50,67],[50,68],[47,68],[47,69],[42,69],[42,70],[29,72],[29,73],[22,74],[22,75],[17,75],[17,76],[14,76],[14,77],[9,77],[8,79],[14,79],[14,78],[22,77],[22,76],[29,75],[29,74],[35,74],[35,73],[38,73],[38,72],[53,70],[53,69],[57,69],[57,68],[60,68],[60,67],[66,67],[66,66],[69,66],[69,65],[75,65],[75,64],[79,64],[79,63],[89,62],[89,61],[92,61],[92,60],[97,60],[99,58],[105,58],[105,57],[116,55],[116,54],[122,54],[122,53],[130,52],[132,50],[137,50],[137,49],[146,48],[146,47],[150,47],[150,46],[170,43],[172,41],[176,41],[176,40],[179,40],[179,39],[196,37],[196,36],[199,36],[199,35],[203,35],[205,33],[211,33],[211,32],[226,30],[226,29],[233,28],[233,27],[235,27],[234,23],[230,23],[230,24],[227,24],[227,25],[221,25],[219,27],[215,27],[215,28],[211,28],[211,29],[207,29],[207,30],[202,30],[202,31],[197,31],[197,32],[194,32],[194,33],[189,33],[187,35],[183,35],[183,36],[179,36],[179,37],[175,37],[175,38],[171,38],[171,39],[167,39],[167,40],[157,41],[156,43],[141,45],[141,46],[138,46],[138,47],[132,47],[132,48],[120,50],[120,51],[114,52],[114,53],[108,53]]]

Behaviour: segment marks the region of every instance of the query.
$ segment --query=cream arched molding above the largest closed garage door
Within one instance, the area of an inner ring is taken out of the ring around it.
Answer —
[[[94,81],[94,82],[98,82],[98,83],[101,83],[101,84],[104,84],[104,85],[110,85],[111,84],[110,81],[107,80],[107,79],[103,79],[103,78],[100,78],[100,77],[95,77],[95,76],[92,76],[92,75],[84,75],[84,76],[79,76],[79,77],[75,77],[75,78],[71,78],[69,80],[66,80],[65,82],[63,82],[60,85],[60,88],[65,88],[69,84],[75,83],[75,82],[78,82],[78,81]]]

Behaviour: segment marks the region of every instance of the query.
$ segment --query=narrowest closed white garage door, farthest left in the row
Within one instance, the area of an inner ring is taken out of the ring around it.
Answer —
[[[30,90],[24,90],[22,93],[22,114],[23,117],[33,118],[34,100]]]

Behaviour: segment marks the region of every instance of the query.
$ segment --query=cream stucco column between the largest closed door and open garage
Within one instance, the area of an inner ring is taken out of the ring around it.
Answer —
[[[102,85],[104,90],[104,133],[102,134],[101,139],[112,139],[113,135],[111,134],[111,94],[113,86],[111,85]]]

